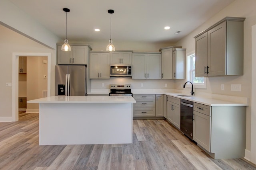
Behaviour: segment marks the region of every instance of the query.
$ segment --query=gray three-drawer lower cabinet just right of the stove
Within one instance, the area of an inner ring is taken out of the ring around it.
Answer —
[[[136,100],[133,104],[133,117],[156,116],[155,94],[134,94],[133,98]]]

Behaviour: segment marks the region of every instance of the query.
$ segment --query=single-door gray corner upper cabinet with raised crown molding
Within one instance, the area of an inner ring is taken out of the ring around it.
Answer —
[[[161,48],[162,53],[162,79],[172,79],[172,50],[182,46],[170,46]]]

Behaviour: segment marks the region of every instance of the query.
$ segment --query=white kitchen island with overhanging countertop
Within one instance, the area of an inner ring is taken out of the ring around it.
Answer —
[[[39,145],[132,143],[131,96],[51,96],[39,103]]]

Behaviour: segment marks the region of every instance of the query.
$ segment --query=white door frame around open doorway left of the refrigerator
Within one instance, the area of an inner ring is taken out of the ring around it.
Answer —
[[[47,57],[47,96],[51,94],[51,53],[12,53],[12,117],[9,121],[18,121],[19,119],[19,56]]]

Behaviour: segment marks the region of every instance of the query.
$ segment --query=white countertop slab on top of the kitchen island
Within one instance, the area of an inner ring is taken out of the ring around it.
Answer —
[[[28,103],[136,103],[131,96],[51,96]]]

